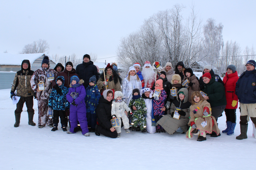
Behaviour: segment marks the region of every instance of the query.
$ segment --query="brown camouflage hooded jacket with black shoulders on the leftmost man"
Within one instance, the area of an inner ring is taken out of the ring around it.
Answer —
[[[24,62],[28,63],[28,69],[24,70],[22,65]],[[30,79],[34,71],[30,70],[29,60],[23,60],[21,63],[21,70],[15,74],[11,92],[14,93],[17,90],[17,96],[28,97],[34,95],[34,90],[31,88]]]

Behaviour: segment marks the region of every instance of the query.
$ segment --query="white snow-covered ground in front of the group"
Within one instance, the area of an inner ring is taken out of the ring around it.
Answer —
[[[184,134],[125,133],[111,139],[91,133],[85,137],[78,132],[67,134],[52,132],[48,126],[37,127],[38,109],[34,100],[34,122],[28,125],[24,106],[20,126],[14,128],[14,111],[10,89],[0,90],[1,138],[0,169],[249,169],[255,168],[256,139],[252,137],[249,122],[248,139],[236,140],[240,134],[237,109],[235,134],[210,137],[198,142],[197,137],[187,139]],[[223,113],[224,114],[224,113]],[[226,127],[225,114],[218,119],[222,131]],[[253,163],[254,162],[254,163]]]

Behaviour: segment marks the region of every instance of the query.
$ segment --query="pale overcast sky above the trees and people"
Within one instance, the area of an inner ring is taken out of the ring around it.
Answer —
[[[136,31],[160,10],[172,8],[176,3],[186,8],[186,18],[191,0],[129,0],[129,1],[12,1],[0,0],[0,52],[18,54],[24,45],[38,39],[49,43],[49,54],[69,56],[94,53],[98,58],[116,56],[121,37]],[[205,24],[214,18],[222,22],[224,43],[236,41],[242,51],[256,45],[256,1],[212,0],[193,1]],[[107,62],[115,58],[106,59]],[[104,62],[101,59],[98,62]]]

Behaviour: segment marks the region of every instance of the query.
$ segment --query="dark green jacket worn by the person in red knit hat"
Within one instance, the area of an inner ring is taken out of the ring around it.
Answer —
[[[215,77],[212,77],[208,84],[205,84],[205,88],[202,90],[207,94],[209,100],[207,100],[211,107],[227,105],[225,87],[220,82],[215,81]]]

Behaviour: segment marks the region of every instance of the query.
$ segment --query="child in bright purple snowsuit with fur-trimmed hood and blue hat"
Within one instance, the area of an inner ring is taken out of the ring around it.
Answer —
[[[86,119],[86,105],[84,97],[86,96],[85,88],[83,86],[84,80],[79,80],[77,76],[70,78],[70,88],[67,94],[67,100],[70,105],[70,129],[67,131],[68,134],[76,133],[74,129],[77,127],[77,121],[80,123],[82,134],[86,137],[90,136],[87,119]]]

